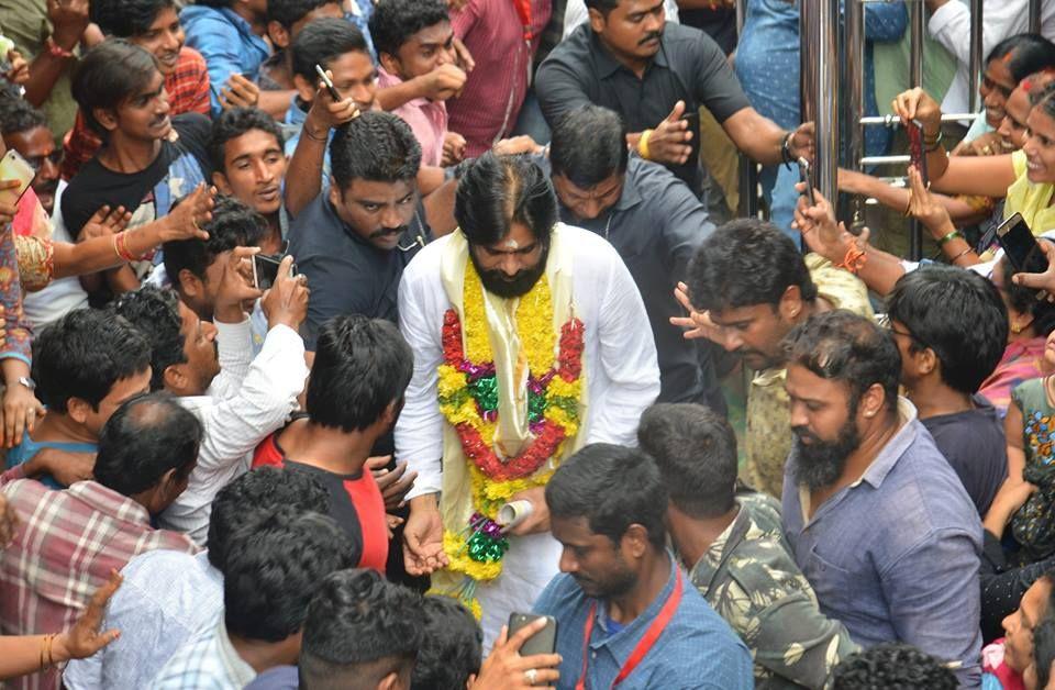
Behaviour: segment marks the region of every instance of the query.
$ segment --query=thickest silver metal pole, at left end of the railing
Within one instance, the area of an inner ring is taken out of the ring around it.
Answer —
[[[799,3],[802,121],[817,127],[814,180],[835,200],[839,175],[839,0]]]

